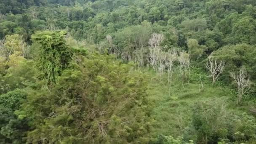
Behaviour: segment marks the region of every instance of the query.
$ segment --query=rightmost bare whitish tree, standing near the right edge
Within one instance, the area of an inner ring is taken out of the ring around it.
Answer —
[[[239,106],[242,103],[244,93],[246,93],[250,88],[250,80],[247,78],[245,68],[240,68],[239,73],[232,72],[230,75],[237,84],[237,105]]]

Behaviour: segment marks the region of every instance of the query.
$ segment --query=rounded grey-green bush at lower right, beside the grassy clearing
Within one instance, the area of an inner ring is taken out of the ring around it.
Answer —
[[[222,99],[209,99],[196,103],[193,108],[192,125],[197,131],[197,141],[208,144],[225,138],[228,118],[227,104]],[[219,134],[221,132],[222,135]]]

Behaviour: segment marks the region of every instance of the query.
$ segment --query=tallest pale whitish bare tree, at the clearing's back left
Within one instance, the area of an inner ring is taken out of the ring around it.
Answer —
[[[161,61],[163,61],[163,48],[160,47],[160,44],[163,42],[164,37],[162,34],[152,34],[152,37],[149,39],[149,63],[155,71]]]

